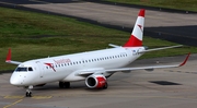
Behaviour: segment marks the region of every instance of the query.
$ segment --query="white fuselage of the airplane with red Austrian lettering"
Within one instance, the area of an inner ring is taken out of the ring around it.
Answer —
[[[16,86],[28,86],[57,81],[80,81],[85,79],[85,76],[78,75],[80,71],[125,67],[139,58],[142,53],[138,53],[138,51],[141,50],[144,50],[144,47],[117,47],[30,60],[16,68],[10,83]]]

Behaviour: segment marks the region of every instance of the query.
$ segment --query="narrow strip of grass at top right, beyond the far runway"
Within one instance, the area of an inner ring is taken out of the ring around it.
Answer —
[[[185,11],[197,12],[197,1],[196,0],[103,0],[118,3],[127,4],[140,4],[157,8],[169,8]]]

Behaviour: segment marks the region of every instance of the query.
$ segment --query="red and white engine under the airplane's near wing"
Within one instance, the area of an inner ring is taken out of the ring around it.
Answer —
[[[85,84],[89,88],[107,88],[106,77],[101,74],[88,76]]]

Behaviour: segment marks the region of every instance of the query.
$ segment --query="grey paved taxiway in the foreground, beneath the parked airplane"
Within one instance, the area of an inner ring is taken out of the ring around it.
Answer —
[[[174,64],[181,57],[137,60],[130,67]],[[33,89],[33,97],[24,97],[25,89],[9,84],[10,73],[0,75],[1,108],[196,108],[197,55],[186,65],[173,69],[143,70],[116,73],[108,79],[107,89],[89,89],[84,82],[71,83],[60,89],[49,83]]]

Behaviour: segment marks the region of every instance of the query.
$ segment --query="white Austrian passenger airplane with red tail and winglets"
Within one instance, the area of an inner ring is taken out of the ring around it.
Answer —
[[[25,87],[25,96],[32,97],[33,87],[45,85],[46,83],[59,82],[60,88],[69,88],[70,82],[84,81],[89,88],[106,89],[108,87],[107,77],[116,72],[184,65],[188,60],[189,53],[179,64],[126,68],[126,65],[134,62],[144,52],[182,46],[153,49],[142,46],[144,13],[144,9],[139,11],[132,33],[124,46],[109,44],[113,48],[34,59],[24,62],[13,61],[11,59],[11,49],[9,49],[5,62],[18,64],[18,68],[10,77],[10,83],[14,86]]]

